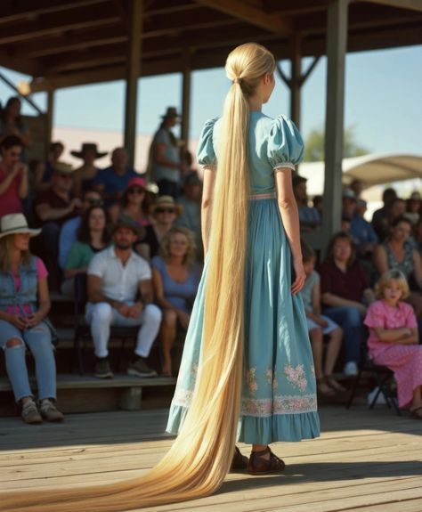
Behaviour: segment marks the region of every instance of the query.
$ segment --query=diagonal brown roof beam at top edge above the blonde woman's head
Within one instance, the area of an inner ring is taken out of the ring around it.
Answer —
[[[293,25],[290,20],[281,18],[278,15],[268,14],[262,9],[257,9],[254,5],[247,4],[247,2],[240,2],[240,0],[231,0],[230,2],[227,0],[197,0],[197,2],[215,11],[224,12],[238,20],[246,21],[256,27],[264,28],[264,30],[279,36],[287,37],[293,31]]]

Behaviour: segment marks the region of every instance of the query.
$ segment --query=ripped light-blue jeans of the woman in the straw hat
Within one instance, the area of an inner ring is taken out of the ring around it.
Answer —
[[[10,340],[14,340],[12,346],[7,343]],[[27,347],[36,363],[38,399],[56,398],[56,364],[52,336],[44,321],[31,329],[20,330],[9,321],[0,320],[0,347],[4,350],[7,375],[16,402],[24,396],[33,396],[25,361]]]

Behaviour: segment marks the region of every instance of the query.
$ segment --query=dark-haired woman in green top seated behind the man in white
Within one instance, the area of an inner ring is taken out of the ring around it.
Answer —
[[[65,280],[61,283],[61,293],[74,295],[75,276],[88,270],[93,256],[110,244],[108,216],[103,207],[90,207],[82,218],[77,233],[77,241],[72,244],[64,265]]]

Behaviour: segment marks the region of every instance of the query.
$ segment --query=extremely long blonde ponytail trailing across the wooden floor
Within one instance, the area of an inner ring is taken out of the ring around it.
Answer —
[[[239,421],[248,217],[247,97],[275,61],[264,46],[233,50],[213,194],[201,360],[191,405],[170,451],[147,475],[118,484],[2,496],[11,512],[112,512],[207,496],[231,466]],[[37,503],[37,505],[35,505]],[[60,507],[58,507],[60,503]],[[32,505],[32,506],[28,506]]]

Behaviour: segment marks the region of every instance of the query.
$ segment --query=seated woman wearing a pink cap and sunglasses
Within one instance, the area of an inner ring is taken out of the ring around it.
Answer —
[[[134,219],[140,226],[147,226],[150,219],[145,213],[144,199],[146,197],[147,183],[141,177],[131,178],[123,198],[109,209],[110,219],[115,223],[120,215]]]

